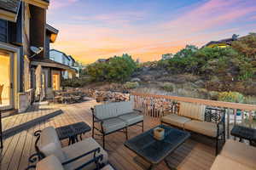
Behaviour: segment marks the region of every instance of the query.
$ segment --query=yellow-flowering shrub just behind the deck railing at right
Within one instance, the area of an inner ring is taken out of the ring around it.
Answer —
[[[234,103],[243,103],[245,97],[238,92],[222,92],[218,94],[218,100]]]

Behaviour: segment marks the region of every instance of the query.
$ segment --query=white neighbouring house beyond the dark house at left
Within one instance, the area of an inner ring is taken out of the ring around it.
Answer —
[[[79,77],[79,67],[76,67],[74,65],[75,59],[73,59],[71,55],[67,55],[56,49],[50,49],[49,59],[55,62],[61,63],[62,65],[67,65],[73,69],[73,70],[62,71],[62,77],[64,79]]]

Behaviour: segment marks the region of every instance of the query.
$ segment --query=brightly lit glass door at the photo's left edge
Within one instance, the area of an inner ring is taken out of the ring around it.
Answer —
[[[13,108],[13,54],[0,50],[0,109]]]

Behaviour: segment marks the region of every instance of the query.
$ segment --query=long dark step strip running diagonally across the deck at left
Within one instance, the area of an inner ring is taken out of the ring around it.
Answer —
[[[25,122],[18,126],[11,127],[9,129],[3,131],[3,139],[8,139],[9,137],[14,136],[16,133],[20,133],[23,130],[27,130],[33,126],[36,126],[40,122],[44,122],[52,117],[61,115],[62,113],[63,113],[63,111],[61,111],[61,110],[53,111],[47,115],[39,116],[38,118],[35,118],[29,122]]]

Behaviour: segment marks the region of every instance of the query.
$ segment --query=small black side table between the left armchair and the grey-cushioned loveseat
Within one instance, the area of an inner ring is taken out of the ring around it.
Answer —
[[[90,131],[90,126],[85,122],[77,122],[63,127],[57,127],[56,132],[60,140],[69,139],[68,144],[78,142],[78,135],[82,139],[82,134]]]

